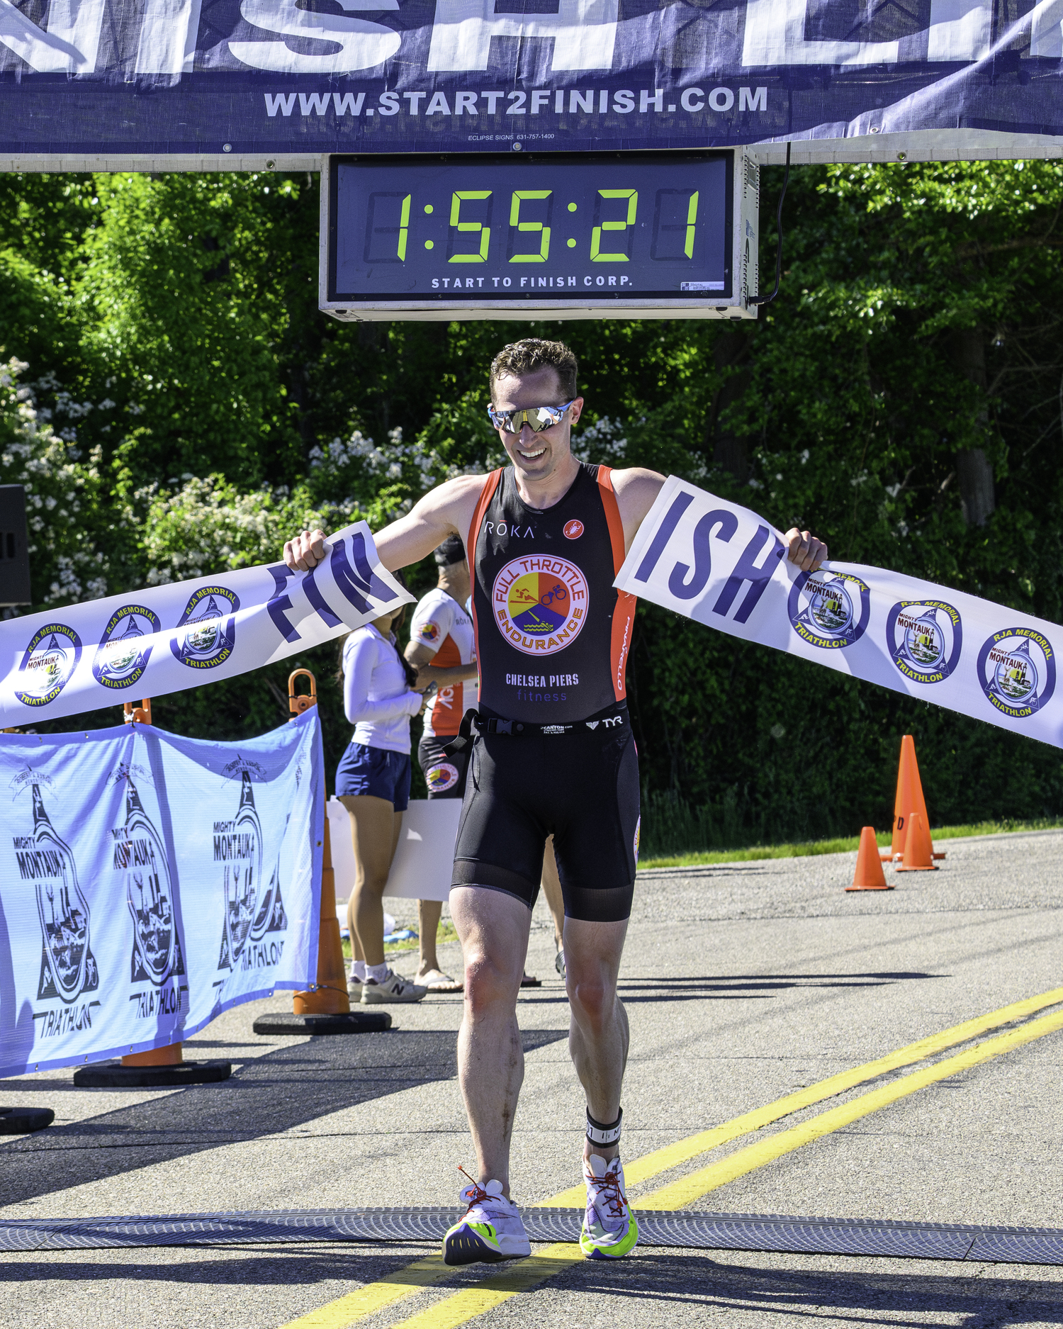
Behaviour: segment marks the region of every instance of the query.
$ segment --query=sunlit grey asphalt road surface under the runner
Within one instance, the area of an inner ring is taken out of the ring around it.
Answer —
[[[1063,833],[946,848],[939,872],[897,876],[889,893],[844,892],[853,855],[640,874],[622,970],[625,1158],[1058,987]],[[441,958],[457,964],[453,948]],[[514,1196],[538,1204],[578,1180],[582,1132],[542,905],[529,965],[545,983],[521,999]],[[229,1011],[187,1046],[186,1057],[237,1063],[225,1084],[90,1091],[73,1088],[69,1071],[0,1082],[0,1103],[56,1111],[48,1131],[0,1143],[0,1219],[454,1204],[457,1166],[472,1164],[454,1079],[460,998],[397,1007],[396,1030],[357,1038],[256,1038],[251,1021],[266,1009],[290,1009],[290,997]],[[1048,1033],[691,1207],[1063,1228],[1060,1050],[1063,1030]],[[682,1162],[631,1185],[631,1197],[890,1078]],[[0,1253],[0,1324],[279,1329],[431,1253],[397,1244]],[[469,1322],[461,1308],[474,1297],[456,1302],[454,1292],[497,1273],[461,1271],[364,1318],[326,1310],[320,1329]],[[1059,1325],[1063,1268],[639,1249],[615,1265],[571,1264],[473,1322],[614,1329],[724,1316],[733,1329]]]

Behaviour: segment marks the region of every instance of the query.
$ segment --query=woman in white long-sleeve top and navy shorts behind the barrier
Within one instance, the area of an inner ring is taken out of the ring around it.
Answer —
[[[424,708],[416,670],[399,651],[393,629],[405,606],[344,638],[343,708],[355,732],[336,768],[336,797],[351,815],[355,889],[347,901],[353,961],[347,990],[364,1006],[420,1001],[427,987],[408,982],[384,960],[384,886],[409,803],[409,720]]]

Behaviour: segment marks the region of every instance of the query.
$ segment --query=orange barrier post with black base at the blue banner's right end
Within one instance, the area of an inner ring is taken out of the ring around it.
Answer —
[[[310,679],[310,692],[296,692],[295,680]],[[308,668],[288,675],[288,710],[292,719],[318,704],[318,680]],[[318,981],[307,991],[292,995],[291,1015],[259,1015],[256,1034],[364,1034],[391,1029],[387,1011],[352,1011],[347,995],[347,968],[343,962],[340,921],[336,917],[336,873],[328,837],[328,808],[322,840],[322,910],[318,924]]]

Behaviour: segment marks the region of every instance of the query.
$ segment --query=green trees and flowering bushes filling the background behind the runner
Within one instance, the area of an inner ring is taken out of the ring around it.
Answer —
[[[765,218],[779,183],[764,173]],[[379,526],[497,464],[486,364],[530,334],[581,358],[589,460],[1059,621],[1060,206],[1052,162],[803,169],[756,323],[359,327],[316,310],[316,177],[0,177],[0,480],[31,493],[35,601],[272,558],[307,521]],[[409,575],[420,591],[433,570]],[[331,763],[335,657],[292,662],[318,672]],[[155,716],[259,732],[290,667]],[[885,825],[909,731],[934,820],[1063,811],[1052,748],[652,606],[630,679],[650,847]]]

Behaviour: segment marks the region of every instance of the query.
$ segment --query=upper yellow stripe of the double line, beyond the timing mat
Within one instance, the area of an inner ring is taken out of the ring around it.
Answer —
[[[939,1034],[930,1034],[927,1038],[909,1043],[908,1047],[901,1047],[888,1057],[880,1057],[874,1062],[854,1066],[849,1071],[840,1071],[837,1075],[830,1075],[816,1084],[809,1084],[807,1088],[787,1094],[784,1098],[777,1098],[765,1107],[753,1108],[752,1112],[735,1116],[722,1126],[714,1126],[708,1131],[699,1131],[698,1135],[690,1135],[675,1144],[666,1144],[664,1148],[654,1150],[651,1154],[643,1154],[642,1158],[634,1159],[631,1163],[625,1163],[625,1183],[631,1187],[638,1185],[640,1181],[648,1181],[650,1177],[659,1176],[662,1172],[667,1172],[668,1168],[687,1163],[690,1159],[698,1158],[699,1154],[707,1154],[710,1150],[715,1150],[720,1144],[727,1144],[729,1140],[736,1140],[741,1135],[748,1135],[749,1131],[759,1131],[764,1126],[771,1126],[772,1122],[789,1116],[791,1112],[800,1112],[801,1108],[812,1107],[826,1098],[834,1098],[837,1094],[856,1088],[857,1084],[864,1084],[866,1080],[877,1079],[880,1075],[898,1070],[901,1066],[912,1066],[913,1062],[925,1061],[927,1057],[943,1053],[946,1047],[966,1043],[971,1038],[987,1033],[990,1029],[1010,1025],[1015,1019],[1023,1019],[1043,1010],[1046,1006],[1055,1006],[1059,1002],[1063,1002],[1063,987],[1054,987],[1048,993],[1042,993],[1040,997],[1028,997],[1024,1001],[1013,1002],[1010,1006],[1002,1006],[999,1010],[990,1011],[989,1015],[978,1015],[975,1019],[967,1019],[962,1025],[953,1025],[951,1029],[945,1029]],[[539,1200],[539,1204],[543,1208],[547,1205],[582,1208],[585,1199],[586,1188],[581,1184],[562,1191],[549,1200]]]

